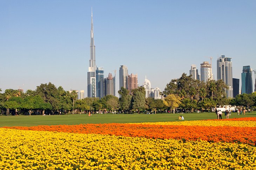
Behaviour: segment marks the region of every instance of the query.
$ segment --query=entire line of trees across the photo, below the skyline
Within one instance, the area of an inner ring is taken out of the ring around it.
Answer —
[[[56,88],[52,83],[40,84],[36,90],[6,89],[0,93],[1,114],[67,114],[81,112],[159,112],[166,110],[195,109],[210,110],[216,106],[236,105],[242,107],[256,106],[256,93],[237,95],[227,98],[223,80],[209,80],[207,83],[194,80],[183,73],[179,79],[171,80],[161,95],[164,99],[146,98],[143,87],[129,91],[123,87],[118,91],[120,97],[107,95],[99,98],[79,99],[76,91]],[[1,89],[0,89],[1,91]]]

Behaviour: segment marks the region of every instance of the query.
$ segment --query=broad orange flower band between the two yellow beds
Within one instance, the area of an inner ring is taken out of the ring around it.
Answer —
[[[242,120],[242,119],[241,119]],[[243,119],[244,120],[244,119]],[[33,127],[4,127],[20,130],[95,133],[159,139],[205,140],[209,142],[238,142],[255,145],[256,127],[184,126],[147,124],[80,124]]]

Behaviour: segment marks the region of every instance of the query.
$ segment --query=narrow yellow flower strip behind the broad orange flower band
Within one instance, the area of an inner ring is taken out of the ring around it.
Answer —
[[[130,124],[148,124],[148,125],[185,125],[185,126],[238,126],[238,127],[256,127],[256,121],[216,121],[216,120],[193,120],[193,121],[169,121],[169,122],[147,122]]]

